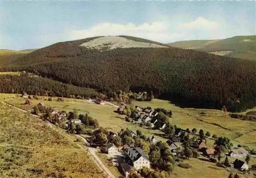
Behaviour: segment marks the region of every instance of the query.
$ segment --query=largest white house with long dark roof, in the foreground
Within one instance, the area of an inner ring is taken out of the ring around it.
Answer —
[[[125,149],[125,153],[130,158],[131,163],[135,169],[141,169],[143,166],[150,168],[150,160],[139,147],[128,147]]]

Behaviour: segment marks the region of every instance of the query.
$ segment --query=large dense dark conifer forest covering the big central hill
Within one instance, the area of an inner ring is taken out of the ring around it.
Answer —
[[[77,46],[80,42],[36,50],[2,70],[26,70],[94,88],[109,97],[119,90],[153,91],[155,97],[184,107],[225,105],[229,111],[242,111],[256,105],[254,61],[180,48],[118,48],[99,53]]]

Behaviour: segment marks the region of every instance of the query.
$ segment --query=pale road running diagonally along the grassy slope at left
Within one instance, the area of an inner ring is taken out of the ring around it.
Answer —
[[[26,110],[23,110],[23,109],[20,109],[18,107],[15,107],[14,105],[11,105],[9,103],[5,103],[4,101],[1,101],[2,104],[4,105],[7,105],[7,106],[11,106],[19,111],[22,111],[24,113],[29,113],[28,111]],[[112,104],[113,105],[113,104]],[[114,105],[115,106],[115,105]],[[35,114],[31,114],[29,113],[30,115],[34,116],[34,117],[37,117],[39,118],[40,116],[38,115],[35,115]],[[97,151],[96,148],[92,148],[92,147],[88,147],[88,148],[85,148],[83,147],[82,145],[74,142],[74,140],[72,138],[70,138],[67,134],[63,134],[62,132],[60,132],[59,130],[57,130],[56,128],[54,128],[54,124],[48,122],[48,121],[45,121],[45,123],[47,125],[49,125],[53,130],[55,130],[56,132],[60,133],[62,136],[66,137],[69,141],[71,141],[72,143],[74,143],[75,145],[77,145],[79,148],[81,148],[82,150],[86,151],[86,152],[89,152],[89,154],[91,155],[91,158],[92,160],[95,162],[95,164],[99,167],[100,170],[102,170],[109,178],[116,178],[112,173],[111,171],[105,167],[105,165],[102,163],[102,161],[99,159],[99,157],[95,154],[95,152]],[[83,137],[81,137],[80,135],[76,135],[76,137],[78,138],[81,138],[84,142],[85,145],[88,145],[88,141],[86,139],[84,139]]]

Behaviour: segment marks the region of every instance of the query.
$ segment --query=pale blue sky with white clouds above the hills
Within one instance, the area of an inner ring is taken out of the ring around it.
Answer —
[[[3,1],[0,49],[31,49],[94,36],[163,43],[255,35],[253,1]]]

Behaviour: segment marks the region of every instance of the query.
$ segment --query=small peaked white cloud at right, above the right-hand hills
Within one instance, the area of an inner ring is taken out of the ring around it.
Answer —
[[[198,17],[194,21],[181,23],[180,27],[187,29],[218,29],[219,23],[207,20],[204,17]]]

